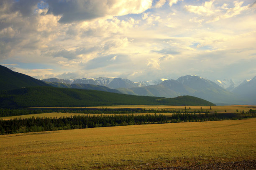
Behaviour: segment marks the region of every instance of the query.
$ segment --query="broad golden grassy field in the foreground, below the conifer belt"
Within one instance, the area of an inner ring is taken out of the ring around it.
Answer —
[[[256,159],[256,119],[0,136],[0,169],[134,169]]]

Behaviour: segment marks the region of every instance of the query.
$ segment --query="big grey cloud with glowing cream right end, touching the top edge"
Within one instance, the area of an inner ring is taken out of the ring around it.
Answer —
[[[47,0],[47,14],[61,15],[60,23],[100,17],[139,14],[151,8],[152,0]]]

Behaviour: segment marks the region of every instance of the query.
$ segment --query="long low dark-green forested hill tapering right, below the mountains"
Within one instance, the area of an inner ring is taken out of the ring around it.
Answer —
[[[102,105],[215,105],[192,96],[162,98],[47,86],[0,92],[0,107],[87,107]]]

